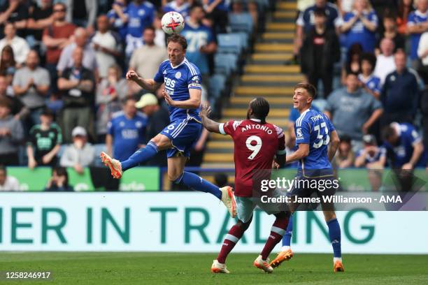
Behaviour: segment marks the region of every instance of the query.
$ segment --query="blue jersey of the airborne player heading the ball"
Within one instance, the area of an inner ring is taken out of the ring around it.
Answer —
[[[199,68],[187,59],[184,59],[178,66],[172,66],[169,59],[162,62],[155,75],[155,81],[165,83],[166,92],[173,101],[186,101],[190,98],[189,89],[201,90],[201,73]],[[185,119],[192,117],[201,122],[199,117],[199,108],[183,109],[168,106],[169,119],[174,122],[176,119]]]

